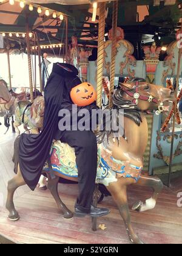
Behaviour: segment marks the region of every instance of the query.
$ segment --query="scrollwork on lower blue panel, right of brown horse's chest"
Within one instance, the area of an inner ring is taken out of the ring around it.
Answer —
[[[174,135],[176,139],[178,139],[178,135]],[[171,136],[170,135],[166,135],[164,136],[163,140],[165,141],[166,139],[167,140],[170,140]],[[182,135],[180,134],[180,139],[182,138]],[[164,163],[166,163],[166,165],[169,165],[170,163],[170,156],[167,156],[167,155],[164,155],[163,154],[163,148],[160,144],[160,141],[161,141],[161,136],[160,136],[160,132],[157,131],[157,139],[156,139],[156,146],[157,146],[157,149],[158,149],[158,152],[157,154],[153,154],[153,157],[155,158],[158,158],[158,159],[161,159],[164,161]],[[175,157],[178,157],[179,155],[182,154],[182,149],[181,149],[181,146],[182,146],[182,141],[179,141],[178,145],[177,145],[177,148],[175,150],[175,153],[174,155],[172,156],[172,158],[174,159]]]

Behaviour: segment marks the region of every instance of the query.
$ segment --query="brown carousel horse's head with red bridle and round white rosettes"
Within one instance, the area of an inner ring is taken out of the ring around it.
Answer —
[[[120,83],[123,91],[123,98],[136,104],[141,111],[163,112],[169,106],[170,101],[174,101],[174,90],[163,86],[149,84],[144,79],[133,78],[127,83]]]

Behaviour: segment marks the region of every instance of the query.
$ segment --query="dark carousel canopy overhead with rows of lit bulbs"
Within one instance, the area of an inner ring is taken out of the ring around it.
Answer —
[[[103,0],[97,2],[104,2]],[[106,40],[112,27],[112,1],[105,1]],[[125,38],[139,47],[151,43],[169,44],[175,40],[175,30],[180,27],[182,0],[122,0],[118,8],[118,27],[124,29]],[[93,21],[95,1],[87,0],[0,0],[0,34],[7,38],[14,48],[25,43],[25,25],[29,23],[30,33],[36,31],[40,44],[59,46],[66,40],[66,19],[68,38],[75,35],[78,43],[97,46],[98,12]],[[6,44],[6,40],[4,40]],[[33,40],[32,40],[33,45]],[[25,46],[24,46],[25,47]]]

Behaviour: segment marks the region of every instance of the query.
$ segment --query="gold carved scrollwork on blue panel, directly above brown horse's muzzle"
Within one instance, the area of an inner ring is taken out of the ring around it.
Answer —
[[[167,57],[164,59],[164,68],[167,67],[166,70],[163,71],[162,84],[164,83],[165,78],[170,74],[174,76],[175,74],[175,59],[174,59],[174,49],[176,47],[177,41],[173,41],[169,44],[167,48]]]

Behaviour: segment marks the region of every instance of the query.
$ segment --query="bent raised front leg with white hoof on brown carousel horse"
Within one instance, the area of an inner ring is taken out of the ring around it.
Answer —
[[[136,204],[133,205],[132,210],[136,210],[138,212],[145,212],[147,210],[152,210],[153,208],[155,208],[158,195],[163,190],[163,182],[161,182],[161,180],[157,177],[141,176],[140,180],[138,180],[136,185],[141,187],[153,188],[153,195],[146,200],[145,204],[143,204],[143,202],[141,201],[136,202]]]

